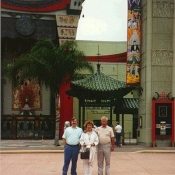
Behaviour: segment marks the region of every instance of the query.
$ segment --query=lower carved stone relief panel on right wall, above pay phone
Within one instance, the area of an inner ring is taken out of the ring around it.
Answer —
[[[173,51],[153,50],[152,65],[171,66],[173,64]]]

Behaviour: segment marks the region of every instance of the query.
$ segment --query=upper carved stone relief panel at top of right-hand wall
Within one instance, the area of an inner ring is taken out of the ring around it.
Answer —
[[[174,3],[168,1],[158,1],[153,3],[153,17],[173,17]]]

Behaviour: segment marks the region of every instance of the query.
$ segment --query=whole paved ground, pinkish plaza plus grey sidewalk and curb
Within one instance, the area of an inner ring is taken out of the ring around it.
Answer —
[[[53,140],[1,141],[1,175],[61,175],[63,146]],[[81,159],[77,174],[83,175]],[[97,175],[97,161],[93,175]],[[111,175],[175,175],[175,148],[124,145],[111,155]],[[70,170],[68,175],[70,175]]]

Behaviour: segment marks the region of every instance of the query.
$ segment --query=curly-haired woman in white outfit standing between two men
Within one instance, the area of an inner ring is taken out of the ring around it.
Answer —
[[[84,127],[86,128],[86,132],[81,135],[80,144],[83,149],[90,149],[89,159],[82,159],[84,175],[92,175],[96,146],[98,145],[99,140],[96,132],[93,131],[94,123],[92,121],[86,121]]]

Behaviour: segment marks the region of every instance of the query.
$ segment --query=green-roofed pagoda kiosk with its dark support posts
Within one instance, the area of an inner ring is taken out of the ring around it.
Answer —
[[[71,81],[70,87],[66,93],[79,99],[80,126],[85,122],[85,107],[109,107],[111,125],[113,107],[119,106],[123,97],[136,88],[102,73],[99,63],[96,73],[84,79]],[[118,118],[119,113],[116,112],[116,120]]]

